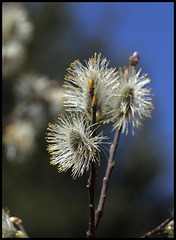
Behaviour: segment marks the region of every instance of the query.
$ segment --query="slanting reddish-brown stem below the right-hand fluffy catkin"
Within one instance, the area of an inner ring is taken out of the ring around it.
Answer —
[[[105,204],[105,199],[106,199],[106,192],[107,192],[107,188],[108,188],[108,183],[109,183],[109,180],[110,180],[112,170],[113,170],[114,165],[115,165],[114,156],[115,156],[116,149],[117,149],[117,146],[118,146],[120,132],[121,132],[121,129],[120,130],[116,129],[115,136],[114,136],[114,141],[113,141],[113,143],[110,147],[110,154],[109,154],[106,174],[105,174],[105,177],[103,178],[100,199],[99,199],[98,207],[95,211],[95,230],[97,230],[99,221],[100,221],[100,219],[103,215],[103,209],[104,209],[104,204]]]

